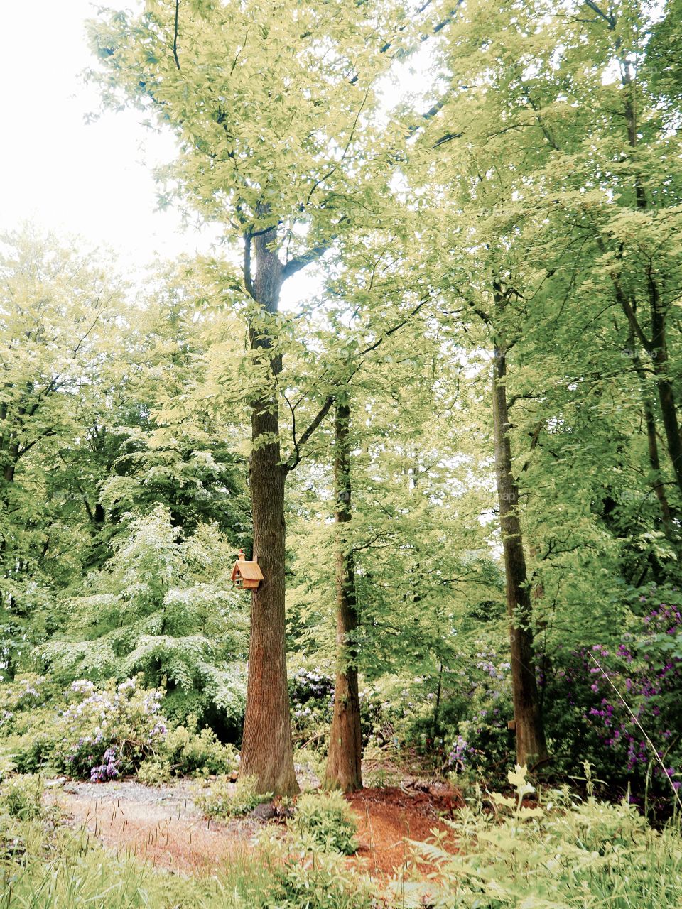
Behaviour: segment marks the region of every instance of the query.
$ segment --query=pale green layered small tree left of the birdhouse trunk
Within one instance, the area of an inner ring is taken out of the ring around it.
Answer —
[[[88,591],[65,591],[41,651],[62,682],[142,674],[165,688],[176,721],[210,719],[236,736],[244,709],[246,617],[226,576],[229,549],[215,526],[186,537],[167,507],[129,515],[113,557],[88,578]]]

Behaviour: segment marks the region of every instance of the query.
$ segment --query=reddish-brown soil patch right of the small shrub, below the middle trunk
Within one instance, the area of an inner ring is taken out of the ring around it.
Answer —
[[[349,861],[358,858],[373,877],[393,877],[405,874],[410,868],[427,872],[433,870],[419,861],[411,840],[424,843],[440,834],[440,844],[447,852],[455,852],[454,834],[444,818],[454,815],[464,804],[461,795],[446,786],[363,789],[348,796],[357,815],[360,848]]]

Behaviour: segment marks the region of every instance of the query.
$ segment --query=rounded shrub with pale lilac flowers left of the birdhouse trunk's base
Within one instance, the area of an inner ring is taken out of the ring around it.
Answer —
[[[103,783],[134,772],[163,742],[161,692],[145,691],[127,679],[101,691],[81,680],[68,694],[72,703],[58,715],[54,754],[67,774]]]

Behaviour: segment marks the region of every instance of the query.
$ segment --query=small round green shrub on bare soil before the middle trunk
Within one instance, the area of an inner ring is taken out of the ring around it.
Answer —
[[[356,852],[356,819],[339,792],[301,795],[289,826],[306,842],[321,846],[326,852]]]

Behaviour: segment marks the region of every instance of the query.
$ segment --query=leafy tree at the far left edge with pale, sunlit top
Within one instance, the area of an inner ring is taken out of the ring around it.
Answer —
[[[10,675],[45,591],[79,570],[74,538],[52,499],[51,474],[61,447],[85,431],[80,402],[95,384],[119,305],[120,286],[75,242],[29,227],[3,236],[0,598]]]

